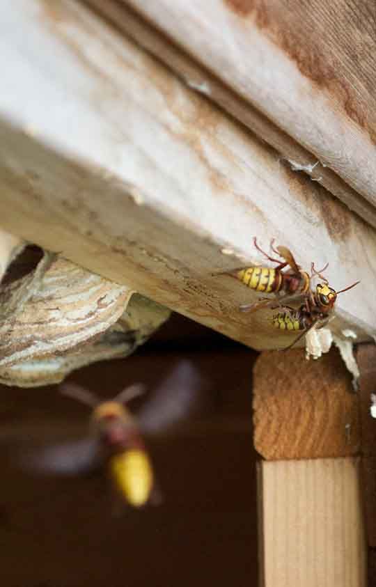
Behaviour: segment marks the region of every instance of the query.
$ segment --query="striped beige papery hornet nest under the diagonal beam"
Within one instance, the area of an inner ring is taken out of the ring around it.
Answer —
[[[3,273],[22,249],[13,243]],[[45,251],[33,271],[0,285],[0,383],[58,383],[79,367],[127,357],[169,315],[125,285]]]

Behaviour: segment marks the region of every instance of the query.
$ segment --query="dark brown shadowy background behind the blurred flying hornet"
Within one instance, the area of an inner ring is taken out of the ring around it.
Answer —
[[[146,439],[162,505],[124,508],[120,516],[102,476],[39,476],[18,464],[20,452],[86,430],[88,408],[57,386],[0,386],[1,586],[257,585],[256,353],[173,315],[132,357],[97,363],[70,380],[109,398],[135,381],[152,387],[180,358],[210,386],[188,422]]]

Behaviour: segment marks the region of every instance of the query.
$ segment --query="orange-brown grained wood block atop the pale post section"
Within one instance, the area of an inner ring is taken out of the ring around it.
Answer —
[[[267,460],[357,455],[359,398],[337,350],[263,352],[253,368],[256,450]]]

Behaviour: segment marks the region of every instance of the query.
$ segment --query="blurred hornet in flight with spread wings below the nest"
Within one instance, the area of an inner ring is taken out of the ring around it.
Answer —
[[[24,451],[22,468],[39,473],[77,475],[104,466],[111,486],[123,503],[140,508],[157,504],[160,492],[143,435],[166,430],[187,418],[199,403],[203,378],[187,360],[175,369],[136,415],[127,403],[145,388],[134,384],[112,400],[100,401],[91,391],[67,383],[61,393],[91,407],[91,433],[81,441],[47,446],[42,451]]]

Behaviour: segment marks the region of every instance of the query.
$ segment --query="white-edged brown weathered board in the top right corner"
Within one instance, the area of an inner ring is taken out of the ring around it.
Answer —
[[[372,0],[123,0],[376,203]]]

